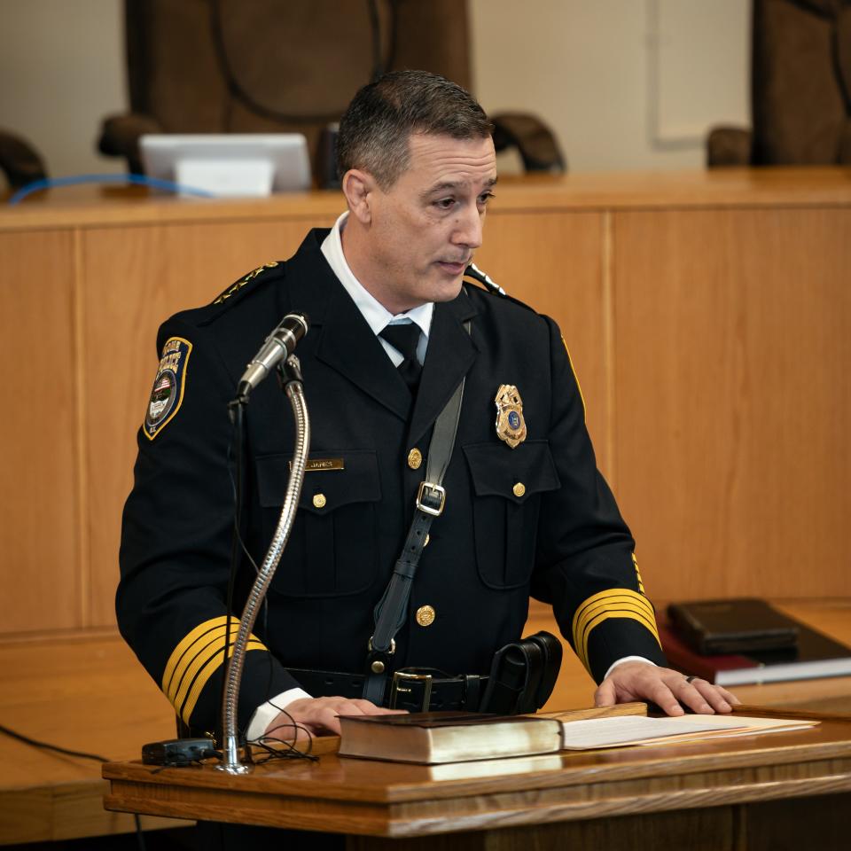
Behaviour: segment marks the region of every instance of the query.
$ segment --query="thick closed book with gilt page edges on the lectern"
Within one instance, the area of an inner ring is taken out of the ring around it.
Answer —
[[[555,753],[561,748],[561,723],[532,715],[340,715],[340,728],[340,756],[371,760],[433,765]]]

